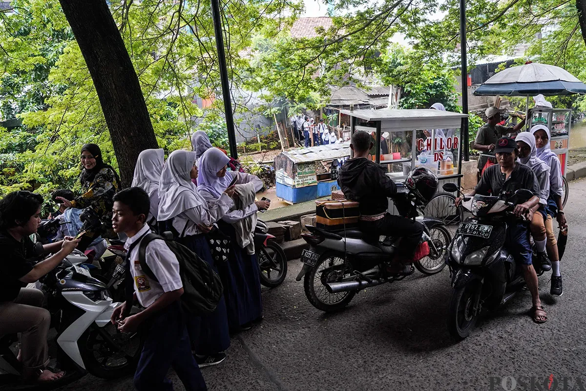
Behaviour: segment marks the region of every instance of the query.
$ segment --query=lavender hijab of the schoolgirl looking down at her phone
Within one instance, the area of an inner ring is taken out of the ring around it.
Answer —
[[[224,190],[232,181],[232,176],[226,172],[222,178],[218,178],[217,172],[230,162],[230,158],[217,148],[208,149],[199,161],[199,176],[197,177],[197,189],[207,190],[215,198],[220,198]]]

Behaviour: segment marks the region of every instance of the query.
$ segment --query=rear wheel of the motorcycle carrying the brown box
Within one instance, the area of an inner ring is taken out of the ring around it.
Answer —
[[[324,253],[315,266],[305,274],[303,281],[305,296],[315,308],[325,312],[335,312],[342,310],[352,301],[357,291],[329,293],[324,285],[348,277],[349,273],[346,269],[343,254]]]

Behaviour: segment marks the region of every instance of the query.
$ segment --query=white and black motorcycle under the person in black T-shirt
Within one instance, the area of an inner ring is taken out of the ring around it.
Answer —
[[[87,372],[102,379],[132,373],[142,350],[141,334],[121,333],[110,318],[120,302],[113,302],[107,287],[91,277],[83,266],[87,257],[74,250],[51,273],[42,278],[52,327],[57,331],[57,361],[67,370],[64,378],[50,383],[63,386]],[[132,307],[131,313],[139,310]],[[21,383],[21,363],[11,346],[18,336],[0,338],[0,383],[4,389],[26,389]],[[43,385],[42,387],[48,387]],[[31,386],[35,389],[39,385]]]

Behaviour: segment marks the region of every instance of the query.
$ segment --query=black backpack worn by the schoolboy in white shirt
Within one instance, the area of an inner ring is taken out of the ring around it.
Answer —
[[[142,271],[149,278],[156,280],[155,274],[152,273],[151,268],[148,266],[145,256],[148,244],[155,239],[164,240],[179,261],[179,274],[183,283],[181,302],[185,311],[196,315],[205,315],[216,310],[224,290],[222,281],[220,281],[220,277],[209,263],[183,246],[183,244],[174,240],[167,240],[154,233],[146,234],[138,247],[138,260]]]

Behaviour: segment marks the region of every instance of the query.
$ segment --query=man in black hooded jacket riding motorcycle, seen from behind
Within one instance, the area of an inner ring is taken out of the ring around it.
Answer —
[[[354,157],[340,168],[338,184],[346,199],[360,203],[360,230],[373,237],[402,237],[399,247],[401,261],[410,263],[415,247],[421,240],[423,226],[388,212],[388,198],[397,194],[397,186],[393,179],[385,175],[382,166],[366,158],[372,147],[372,138],[367,132],[357,131],[352,135],[350,148]]]

